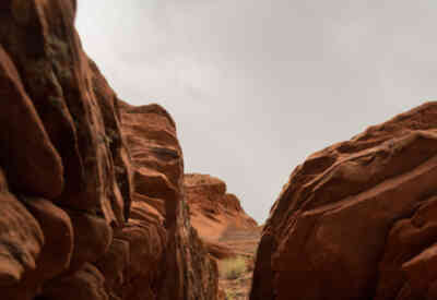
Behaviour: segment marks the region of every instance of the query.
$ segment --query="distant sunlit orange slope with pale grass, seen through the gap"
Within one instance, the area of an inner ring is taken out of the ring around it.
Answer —
[[[220,290],[226,299],[247,299],[260,227],[218,178],[189,173],[184,187],[192,226],[217,262]]]

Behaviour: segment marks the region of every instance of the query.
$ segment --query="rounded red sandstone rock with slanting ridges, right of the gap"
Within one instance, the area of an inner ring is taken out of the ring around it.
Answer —
[[[275,202],[251,300],[436,299],[437,103],[315,153]]]

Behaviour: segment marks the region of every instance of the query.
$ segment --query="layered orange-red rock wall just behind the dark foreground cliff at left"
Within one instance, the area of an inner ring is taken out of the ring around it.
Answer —
[[[175,122],[157,105],[122,104],[121,111],[135,187],[123,229],[134,245],[123,299],[216,299],[216,264],[190,225],[184,197]]]

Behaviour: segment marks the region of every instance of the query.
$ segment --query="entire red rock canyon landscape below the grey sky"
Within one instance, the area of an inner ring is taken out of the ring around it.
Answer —
[[[75,14],[0,3],[0,299],[437,299],[437,101],[308,153],[257,224],[185,171],[165,108],[118,97]]]

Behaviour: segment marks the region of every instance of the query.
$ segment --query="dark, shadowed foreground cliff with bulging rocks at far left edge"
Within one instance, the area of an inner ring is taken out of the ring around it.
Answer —
[[[0,5],[4,299],[46,297],[62,274],[84,271],[130,209],[116,97],[81,48],[74,9],[60,0]]]

